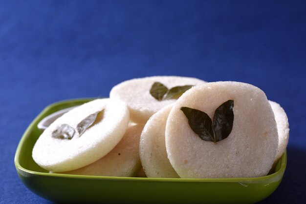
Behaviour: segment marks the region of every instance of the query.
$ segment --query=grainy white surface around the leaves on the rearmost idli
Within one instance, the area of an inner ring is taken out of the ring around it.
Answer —
[[[154,82],[160,82],[169,89],[175,86],[205,83],[196,78],[176,76],[155,76],[132,79],[114,86],[109,93],[109,98],[126,102],[130,109],[131,120],[136,123],[145,123],[162,107],[176,101],[175,99],[157,101],[153,98],[150,94],[150,89]]]

